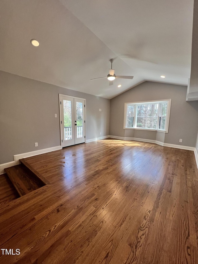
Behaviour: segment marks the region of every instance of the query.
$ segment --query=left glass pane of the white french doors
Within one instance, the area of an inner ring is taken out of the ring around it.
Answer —
[[[72,139],[71,101],[63,100],[63,112],[64,112],[64,138],[65,140]]]

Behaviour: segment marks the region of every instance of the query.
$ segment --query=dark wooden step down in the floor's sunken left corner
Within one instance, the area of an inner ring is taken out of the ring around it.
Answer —
[[[22,164],[5,169],[20,196],[30,193],[45,184]]]

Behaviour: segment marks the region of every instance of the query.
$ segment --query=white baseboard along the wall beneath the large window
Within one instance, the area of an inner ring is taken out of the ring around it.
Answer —
[[[136,141],[143,141],[143,142],[148,142],[148,143],[155,143],[155,144],[158,144],[164,147],[170,147],[170,148],[176,148],[176,149],[187,149],[187,150],[192,150],[192,151],[195,150],[194,147],[168,144],[168,143],[163,143],[163,142],[152,140],[152,139],[144,139],[144,138],[137,138],[137,137],[122,137],[122,136],[109,136],[109,137],[116,138],[116,139],[122,139],[122,140],[136,140]]]

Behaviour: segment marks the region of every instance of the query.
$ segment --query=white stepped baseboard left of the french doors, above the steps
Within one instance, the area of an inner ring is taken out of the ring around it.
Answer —
[[[62,149],[62,147],[56,146],[56,147],[52,147],[52,148],[48,148],[48,149],[40,149],[40,150],[36,150],[36,151],[31,151],[31,152],[27,152],[27,153],[23,153],[23,154],[14,155],[14,161],[7,162],[4,164],[0,164],[0,175],[5,173],[4,172],[5,168],[9,168],[9,167],[18,165],[19,159],[21,159],[21,158],[28,158],[28,157],[36,156],[39,154],[44,154],[44,153],[48,153],[51,151],[59,150],[59,149]]]

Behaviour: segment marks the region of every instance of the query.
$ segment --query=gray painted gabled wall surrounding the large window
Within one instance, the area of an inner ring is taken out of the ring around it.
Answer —
[[[110,101],[110,135],[158,140],[195,147],[198,131],[198,102],[186,102],[187,86],[144,82]],[[172,99],[169,132],[123,129],[124,103]],[[163,139],[164,137],[164,139]],[[183,142],[180,143],[179,139]]]

